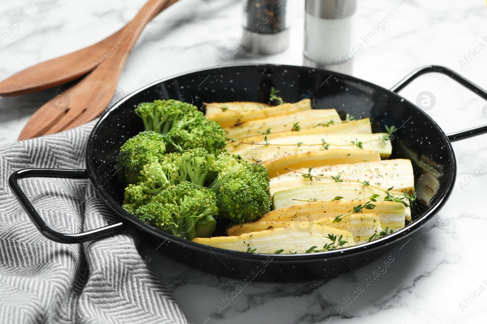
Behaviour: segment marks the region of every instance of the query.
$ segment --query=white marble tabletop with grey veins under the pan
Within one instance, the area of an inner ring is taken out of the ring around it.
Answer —
[[[0,79],[105,38],[131,19],[140,5],[129,0],[2,0],[0,34],[22,13],[28,17],[0,44]],[[292,46],[283,53],[262,57],[267,63],[302,64],[304,1],[292,0],[292,6]],[[120,91],[130,93],[176,73],[213,67],[240,36],[241,11],[241,3],[232,0],[176,3],[142,34],[120,77]],[[463,57],[479,43],[487,45],[487,37],[483,39],[487,36],[484,2],[359,0],[356,42],[389,12],[393,19],[354,57],[354,76],[391,87],[413,69],[436,64],[487,88],[487,49],[470,56],[468,62]],[[263,63],[262,58],[239,52],[231,63]],[[460,65],[459,60],[467,64]],[[486,103],[448,77],[424,76],[402,94],[415,102],[424,90],[435,95],[436,105],[428,113],[445,132],[487,122]],[[15,141],[29,116],[55,91],[0,98],[0,143]],[[481,238],[487,227],[487,212],[482,207],[487,175],[483,171],[468,183],[464,177],[481,164],[487,166],[483,160],[487,158],[486,139],[478,136],[453,144],[458,159],[457,186],[437,222],[391,251],[393,262],[387,272],[349,306],[343,298],[364,286],[362,280],[389,255],[328,281],[253,282],[220,312],[217,305],[239,281],[195,271],[165,258],[156,261],[152,257],[149,265],[194,324],[484,323],[487,258]],[[156,253],[147,245],[140,250],[143,256]]]

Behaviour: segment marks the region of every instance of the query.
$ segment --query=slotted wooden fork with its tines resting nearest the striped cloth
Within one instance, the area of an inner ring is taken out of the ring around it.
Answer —
[[[119,33],[107,59],[85,79],[45,103],[29,119],[19,140],[54,134],[96,118],[110,103],[118,78],[145,25],[177,0],[149,0]]]

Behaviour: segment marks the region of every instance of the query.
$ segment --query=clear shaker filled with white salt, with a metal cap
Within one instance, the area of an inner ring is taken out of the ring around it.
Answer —
[[[305,66],[352,74],[352,26],[356,0],[306,0]]]

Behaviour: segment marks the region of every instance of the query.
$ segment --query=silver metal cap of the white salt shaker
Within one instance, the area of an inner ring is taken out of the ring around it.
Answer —
[[[306,0],[306,13],[322,19],[339,19],[355,14],[357,0]]]

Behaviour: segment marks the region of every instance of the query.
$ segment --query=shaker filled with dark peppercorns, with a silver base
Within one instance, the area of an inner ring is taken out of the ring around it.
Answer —
[[[289,1],[244,0],[245,50],[256,54],[276,54],[289,47],[291,23]]]

